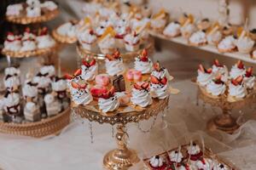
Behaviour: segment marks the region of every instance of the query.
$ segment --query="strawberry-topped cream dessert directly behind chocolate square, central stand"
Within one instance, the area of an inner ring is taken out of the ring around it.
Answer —
[[[121,58],[119,51],[106,55],[105,66],[107,73],[110,76],[120,75],[125,71],[125,65],[123,64],[123,59]]]

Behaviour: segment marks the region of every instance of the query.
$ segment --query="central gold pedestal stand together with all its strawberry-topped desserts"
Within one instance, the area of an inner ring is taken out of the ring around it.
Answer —
[[[166,68],[158,62],[153,65],[146,49],[137,56],[132,69],[125,67],[119,51],[105,58],[106,72],[97,72],[96,59],[87,57],[79,70],[67,75],[68,87],[76,115],[90,122],[117,124],[119,149],[108,152],[104,167],[128,168],[138,157],[123,141],[125,124],[157,116],[177,90],[171,88],[172,77]]]

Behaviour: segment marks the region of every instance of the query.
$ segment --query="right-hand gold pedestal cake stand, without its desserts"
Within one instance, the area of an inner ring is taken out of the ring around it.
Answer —
[[[238,127],[240,127],[236,118],[231,116],[230,111],[233,109],[242,109],[247,105],[253,105],[256,97],[256,90],[250,90],[248,95],[244,99],[230,98],[228,94],[215,97],[208,94],[205,88],[198,86],[198,99],[201,99],[207,104],[217,106],[222,109],[223,114],[213,117],[207,122],[207,129],[214,131],[216,129],[224,131],[226,133],[234,133]]]

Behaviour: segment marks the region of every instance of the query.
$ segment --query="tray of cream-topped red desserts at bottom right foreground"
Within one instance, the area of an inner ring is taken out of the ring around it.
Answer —
[[[235,170],[212,151],[195,142],[183,144],[175,149],[166,150],[156,156],[143,160],[148,170],[180,169],[180,170]]]

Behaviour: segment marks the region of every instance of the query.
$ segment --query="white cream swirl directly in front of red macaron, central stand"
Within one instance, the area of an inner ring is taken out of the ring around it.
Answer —
[[[109,99],[100,98],[98,105],[102,112],[107,113],[108,111],[115,111],[119,108],[119,100],[116,95]]]

